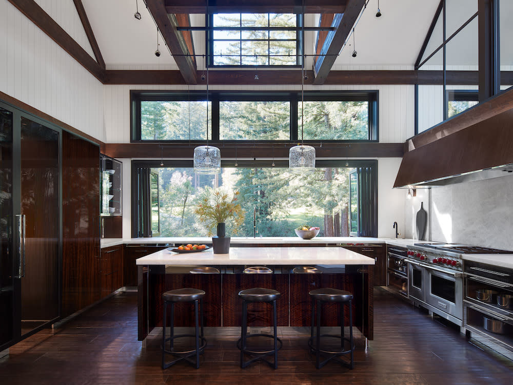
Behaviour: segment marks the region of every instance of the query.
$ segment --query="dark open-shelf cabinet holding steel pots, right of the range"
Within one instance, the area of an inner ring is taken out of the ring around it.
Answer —
[[[513,268],[466,260],[463,274],[467,336],[513,359]]]

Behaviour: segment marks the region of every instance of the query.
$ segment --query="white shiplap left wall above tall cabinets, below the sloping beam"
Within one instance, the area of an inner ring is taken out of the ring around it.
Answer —
[[[105,140],[103,85],[7,1],[0,2],[0,90]]]

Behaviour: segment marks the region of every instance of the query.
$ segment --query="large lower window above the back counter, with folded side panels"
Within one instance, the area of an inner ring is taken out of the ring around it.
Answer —
[[[133,236],[152,236],[156,228],[161,237],[206,236],[209,229],[199,223],[194,208],[215,188],[240,192],[245,221],[236,236],[294,237],[294,228],[303,225],[321,227],[320,236],[377,236],[376,161],[346,166],[346,161],[319,160],[314,172],[302,175],[291,174],[286,161],[275,161],[274,167],[265,161],[230,163],[213,176],[194,174],[188,161],[164,161],[164,166],[133,161]],[[154,175],[158,194],[154,179],[148,179]],[[152,197],[148,202],[147,196]]]

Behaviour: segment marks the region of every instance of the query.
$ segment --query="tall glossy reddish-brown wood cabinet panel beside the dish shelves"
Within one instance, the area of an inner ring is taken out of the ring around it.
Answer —
[[[62,315],[101,298],[100,147],[63,132]]]

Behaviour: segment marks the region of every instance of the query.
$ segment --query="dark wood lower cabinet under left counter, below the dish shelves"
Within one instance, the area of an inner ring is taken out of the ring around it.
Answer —
[[[123,246],[102,249],[100,258],[102,298],[123,286]]]

